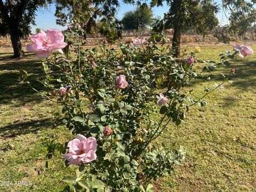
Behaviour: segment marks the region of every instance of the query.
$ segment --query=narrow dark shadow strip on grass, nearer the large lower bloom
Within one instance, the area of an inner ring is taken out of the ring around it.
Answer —
[[[60,125],[60,119],[44,118],[30,121],[16,121],[11,125],[0,127],[0,137],[3,139],[16,137],[21,134],[34,133],[42,129],[53,129],[55,126]]]

